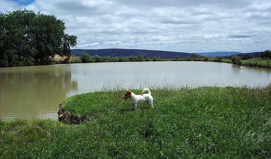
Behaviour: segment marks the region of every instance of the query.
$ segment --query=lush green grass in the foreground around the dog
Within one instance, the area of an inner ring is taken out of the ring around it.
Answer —
[[[141,90],[132,90],[140,94]],[[151,88],[133,111],[124,90],[86,93],[63,109],[88,119],[0,121],[0,158],[270,158],[271,84]]]

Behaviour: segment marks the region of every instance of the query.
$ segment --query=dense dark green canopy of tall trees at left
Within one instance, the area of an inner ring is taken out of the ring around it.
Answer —
[[[0,12],[0,64],[34,59],[47,63],[54,55],[71,55],[77,36],[64,33],[65,23],[54,15],[29,10]]]

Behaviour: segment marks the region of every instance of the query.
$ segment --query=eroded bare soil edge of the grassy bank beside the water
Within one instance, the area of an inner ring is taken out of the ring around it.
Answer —
[[[59,106],[59,110],[57,112],[58,114],[58,121],[64,124],[80,124],[80,123],[84,123],[86,122],[86,118],[85,117],[80,117],[80,116],[76,116],[76,115],[72,115],[69,112],[65,112],[65,110],[63,110],[63,105],[58,105]]]

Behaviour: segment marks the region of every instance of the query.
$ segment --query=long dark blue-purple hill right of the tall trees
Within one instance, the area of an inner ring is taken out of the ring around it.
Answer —
[[[157,51],[157,50],[140,50],[140,49],[72,49],[72,53],[75,56],[81,56],[83,52],[94,56],[109,56],[109,57],[119,57],[119,56],[138,56],[142,54],[145,57],[160,57],[165,59],[174,59],[178,55],[179,58],[190,57],[191,54],[183,52],[171,52],[171,51]]]

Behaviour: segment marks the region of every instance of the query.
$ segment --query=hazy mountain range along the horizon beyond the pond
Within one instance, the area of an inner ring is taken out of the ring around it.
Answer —
[[[184,53],[184,52],[172,52],[172,51],[158,51],[158,50],[140,50],[140,49],[72,49],[71,54],[75,56],[81,56],[83,52],[94,56],[109,56],[109,57],[119,57],[119,56],[138,56],[143,55],[144,57],[160,57],[165,59],[174,59],[179,56],[179,58],[187,58],[190,57],[192,54]],[[253,53],[240,53],[240,52],[206,52],[206,53],[196,53],[200,56],[209,56],[209,57],[226,57],[226,56],[233,56],[233,55],[240,55],[240,56],[255,56],[261,54],[261,52],[253,52]]]

